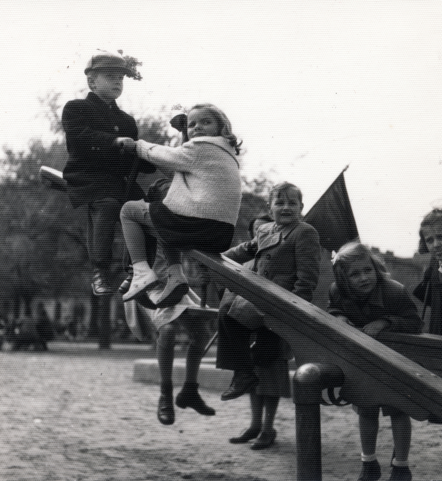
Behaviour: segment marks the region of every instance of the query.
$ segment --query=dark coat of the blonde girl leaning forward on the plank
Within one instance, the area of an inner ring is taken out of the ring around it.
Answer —
[[[418,309],[405,287],[388,278],[378,281],[363,302],[347,297],[334,282],[330,288],[327,311],[334,316],[348,317],[357,328],[379,319],[389,321],[386,330],[390,331],[417,334],[423,326]]]

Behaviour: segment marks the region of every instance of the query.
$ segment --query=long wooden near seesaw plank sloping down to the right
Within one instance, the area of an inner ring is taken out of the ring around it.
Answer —
[[[430,414],[442,418],[442,379],[435,374],[227,257],[188,254],[220,284],[270,315],[266,325],[289,342],[299,366],[339,366],[345,375],[341,395],[347,401],[392,405],[417,420]]]

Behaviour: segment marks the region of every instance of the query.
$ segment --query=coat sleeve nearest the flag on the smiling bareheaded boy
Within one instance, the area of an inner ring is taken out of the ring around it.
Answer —
[[[299,233],[295,245],[296,281],[292,292],[311,302],[313,291],[318,285],[321,247],[315,228],[306,225]]]

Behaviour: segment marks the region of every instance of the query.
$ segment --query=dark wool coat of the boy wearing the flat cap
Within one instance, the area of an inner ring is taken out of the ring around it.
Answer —
[[[135,119],[89,92],[85,99],[69,101],[61,117],[66,132],[69,160],[63,171],[73,207],[97,199],[112,197],[124,202],[143,198],[137,185],[126,198],[126,178],[134,164],[134,155],[120,155],[112,144],[117,137],[138,139]],[[146,163],[143,162],[143,167]],[[147,164],[146,172],[155,171]]]

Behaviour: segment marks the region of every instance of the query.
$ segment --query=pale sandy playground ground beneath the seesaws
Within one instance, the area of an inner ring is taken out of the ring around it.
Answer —
[[[277,441],[263,451],[227,439],[248,426],[246,396],[221,402],[203,391],[216,416],[177,408],[156,419],[159,389],[132,380],[142,346],[50,346],[48,353],[1,352],[1,481],[296,480],[295,410],[278,409]],[[176,389],[175,392],[178,392]],[[413,421],[414,481],[442,480],[442,426]],[[360,470],[357,417],[349,406],[322,408],[323,481],[353,481]],[[389,418],[381,419],[378,457],[388,480]]]

